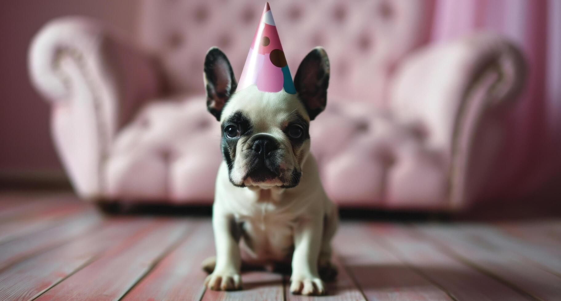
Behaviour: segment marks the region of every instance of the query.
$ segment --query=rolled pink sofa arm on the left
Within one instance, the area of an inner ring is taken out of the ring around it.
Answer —
[[[29,73],[52,105],[51,130],[77,193],[103,194],[103,164],[114,135],[160,89],[159,73],[101,23],[82,17],[50,21],[31,41]]]

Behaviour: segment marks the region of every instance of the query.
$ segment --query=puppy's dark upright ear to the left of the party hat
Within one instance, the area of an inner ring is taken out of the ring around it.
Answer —
[[[226,102],[236,92],[238,83],[232,66],[222,50],[213,47],[206,53],[204,65],[206,88],[206,108],[220,120],[220,113]]]

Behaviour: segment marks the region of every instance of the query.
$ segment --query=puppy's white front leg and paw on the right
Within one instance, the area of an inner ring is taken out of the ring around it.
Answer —
[[[292,256],[293,294],[323,295],[325,288],[318,273],[318,256],[321,248],[323,219],[312,217],[298,221],[295,227],[295,250]]]

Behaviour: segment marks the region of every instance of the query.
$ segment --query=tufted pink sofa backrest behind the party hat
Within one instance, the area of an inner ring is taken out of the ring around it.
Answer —
[[[239,79],[264,0],[144,0],[141,41],[160,59],[175,92],[203,93],[206,50],[219,46]],[[292,76],[314,46],[331,62],[329,92],[384,104],[392,70],[425,43],[433,0],[272,0]]]

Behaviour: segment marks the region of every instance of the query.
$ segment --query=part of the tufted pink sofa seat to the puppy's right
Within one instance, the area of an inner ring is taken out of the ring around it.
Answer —
[[[419,125],[339,101],[310,130],[323,184],[340,205],[429,209],[447,200],[447,160],[427,148]]]

